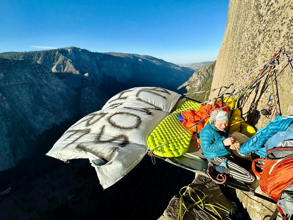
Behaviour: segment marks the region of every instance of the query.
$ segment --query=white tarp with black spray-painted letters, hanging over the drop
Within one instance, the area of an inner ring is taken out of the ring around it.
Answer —
[[[142,160],[148,136],[179,98],[158,87],[120,92],[71,126],[46,155],[63,161],[88,158],[103,188],[110,187]],[[108,163],[100,165],[99,158]]]

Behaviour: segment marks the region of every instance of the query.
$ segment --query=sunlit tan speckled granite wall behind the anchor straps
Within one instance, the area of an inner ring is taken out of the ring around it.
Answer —
[[[268,61],[280,47],[285,46],[286,51],[293,51],[292,23],[293,1],[231,0],[212,88],[234,83],[226,92],[232,89],[237,92],[248,85],[257,73],[249,72]],[[281,54],[279,62],[285,59],[285,55]],[[293,114],[292,79],[293,73],[287,62],[277,67],[273,74],[277,107],[282,115]],[[264,78],[253,91],[244,94],[245,100],[242,100],[243,116],[258,128],[267,123],[259,111],[267,104],[272,93],[269,82],[269,78]],[[211,97],[215,94],[211,94]]]

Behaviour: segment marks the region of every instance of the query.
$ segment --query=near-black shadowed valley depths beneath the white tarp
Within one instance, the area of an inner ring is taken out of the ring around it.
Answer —
[[[80,116],[39,137],[33,157],[0,172],[0,219],[158,219],[174,194],[195,174],[146,156],[115,185],[103,190],[88,159],[69,164],[45,155]]]

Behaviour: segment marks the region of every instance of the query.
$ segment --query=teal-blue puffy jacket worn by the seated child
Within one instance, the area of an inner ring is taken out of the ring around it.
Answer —
[[[208,123],[200,131],[200,139],[202,142],[202,151],[206,158],[215,158],[229,154],[229,151],[222,142],[226,139],[226,129],[220,131]]]

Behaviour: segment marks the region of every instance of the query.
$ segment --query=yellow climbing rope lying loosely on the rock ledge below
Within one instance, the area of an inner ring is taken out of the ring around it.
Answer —
[[[193,200],[194,204],[190,205],[189,207],[186,207],[185,203],[184,203],[184,200],[183,200],[183,195],[181,195],[181,190],[182,189],[189,189],[189,196],[191,198],[191,200]],[[191,193],[194,192],[196,197],[197,197],[197,200],[198,201],[195,201],[195,199],[192,197]],[[199,194],[197,192],[200,192],[202,194],[202,198],[199,196]],[[229,209],[227,209],[226,207],[220,205],[220,204],[217,204],[215,202],[207,202],[207,201],[204,201],[206,199],[206,195],[204,192],[202,192],[201,190],[199,189],[195,189],[195,188],[191,188],[191,187],[188,187],[188,186],[185,186],[185,187],[182,187],[179,191],[179,194],[180,194],[180,207],[179,207],[179,214],[178,214],[178,218],[177,220],[183,220],[184,218],[184,215],[185,213],[193,206],[197,205],[198,208],[200,208],[202,211],[205,211],[208,215],[210,215],[213,219],[217,220],[217,218],[214,216],[216,215],[217,217],[220,217],[222,219],[222,216],[219,214],[219,212],[216,210],[219,209],[219,210],[222,210],[222,211],[226,211],[228,214],[229,214]],[[183,204],[183,207],[185,208],[185,211],[182,215],[182,204]],[[212,211],[214,213],[214,215],[212,215],[211,213],[209,213],[208,211]]]

